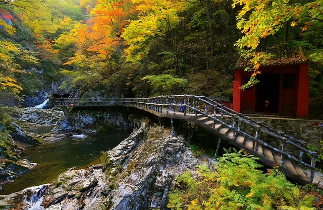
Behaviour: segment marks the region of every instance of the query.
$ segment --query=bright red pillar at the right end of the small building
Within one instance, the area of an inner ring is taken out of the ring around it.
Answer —
[[[309,78],[307,76],[308,63],[300,64],[297,90],[296,117],[308,116]]]

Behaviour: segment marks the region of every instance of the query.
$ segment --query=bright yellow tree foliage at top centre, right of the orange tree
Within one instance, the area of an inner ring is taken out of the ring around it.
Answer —
[[[154,39],[163,39],[180,22],[178,15],[185,4],[174,0],[133,0],[139,12],[137,20],[130,21],[122,37],[129,45],[126,60],[138,62],[150,50]]]

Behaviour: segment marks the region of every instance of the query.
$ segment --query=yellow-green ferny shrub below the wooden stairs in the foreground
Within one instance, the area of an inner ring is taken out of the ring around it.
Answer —
[[[219,158],[215,171],[196,166],[177,178],[169,194],[171,209],[314,209],[313,196],[300,198],[297,186],[286,180],[278,169],[267,173],[257,158],[242,151],[226,153]]]

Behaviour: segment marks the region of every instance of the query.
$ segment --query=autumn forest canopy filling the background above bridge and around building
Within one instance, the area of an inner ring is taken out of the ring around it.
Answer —
[[[316,1],[0,1],[1,94],[82,87],[84,96],[231,96],[240,56],[259,82],[267,49],[303,47],[312,101],[323,90]],[[36,69],[36,71],[35,71]],[[43,72],[38,74],[38,72]],[[167,87],[167,88],[164,88]]]

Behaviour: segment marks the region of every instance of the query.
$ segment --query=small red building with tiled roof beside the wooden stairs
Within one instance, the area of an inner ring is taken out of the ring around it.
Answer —
[[[258,113],[296,117],[308,116],[308,59],[302,49],[275,52],[275,56],[260,67],[260,83],[240,90],[250,76],[248,65],[239,60],[233,83],[233,109],[241,113]]]

